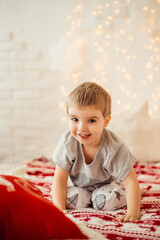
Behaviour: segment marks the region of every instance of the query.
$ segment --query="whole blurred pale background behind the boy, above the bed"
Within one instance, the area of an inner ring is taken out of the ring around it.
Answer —
[[[160,0],[0,0],[0,163],[53,151],[83,81],[110,92],[136,157],[160,160]]]

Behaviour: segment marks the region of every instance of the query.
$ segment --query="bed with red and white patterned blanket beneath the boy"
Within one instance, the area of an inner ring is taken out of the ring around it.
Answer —
[[[136,162],[134,169],[140,186],[147,189],[147,193],[141,200],[140,221],[137,223],[118,222],[117,215],[123,214],[126,208],[114,212],[97,211],[92,208],[70,211],[67,218],[71,219],[89,239],[160,239],[160,162]],[[0,166],[1,175],[11,175],[27,180],[39,189],[45,200],[51,204],[54,171],[53,162],[46,157],[20,164]],[[61,229],[63,231],[63,225]]]

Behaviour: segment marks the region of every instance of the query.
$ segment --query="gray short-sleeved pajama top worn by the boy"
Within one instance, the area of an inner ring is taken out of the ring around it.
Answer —
[[[94,160],[85,163],[82,145],[68,131],[53,153],[53,162],[69,172],[75,186],[95,189],[113,179],[123,181],[135,162],[127,146],[111,130],[103,129],[101,144]]]

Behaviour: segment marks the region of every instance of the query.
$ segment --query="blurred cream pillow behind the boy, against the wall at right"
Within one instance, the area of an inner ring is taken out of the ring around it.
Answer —
[[[110,129],[122,138],[137,161],[160,161],[160,119],[150,118],[147,102],[131,116],[113,117]]]

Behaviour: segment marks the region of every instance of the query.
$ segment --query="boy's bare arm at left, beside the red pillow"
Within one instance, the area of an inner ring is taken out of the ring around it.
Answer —
[[[53,204],[61,211],[66,209],[68,172],[56,166],[52,185]]]

